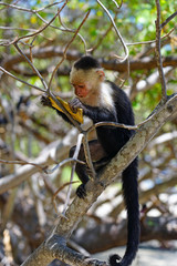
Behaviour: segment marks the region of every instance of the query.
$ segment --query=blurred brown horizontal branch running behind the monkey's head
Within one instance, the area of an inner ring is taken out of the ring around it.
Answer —
[[[37,59],[49,59],[49,58],[55,58],[55,57],[63,57],[63,48],[62,47],[46,47],[46,48],[33,48],[33,58]],[[30,58],[30,52],[25,51],[25,55]],[[76,50],[67,50],[66,52],[66,60],[67,61],[75,61],[79,58],[81,58],[82,54],[77,52]],[[2,62],[2,65],[7,70],[11,70],[14,68],[14,65],[24,62],[24,59],[21,55],[10,55],[6,59],[6,61]],[[103,59],[100,60],[102,66],[105,70],[113,70],[118,72],[125,72],[127,70],[127,63],[126,62],[117,62],[116,60],[110,60],[105,61]],[[163,58],[163,66],[177,66],[177,57],[166,57]],[[157,62],[155,58],[146,57],[144,59],[138,60],[129,60],[129,68],[131,71],[133,70],[152,70],[157,68]],[[65,69],[65,71],[62,70],[61,74],[67,74],[70,73],[70,69]],[[60,74],[60,71],[59,71]]]

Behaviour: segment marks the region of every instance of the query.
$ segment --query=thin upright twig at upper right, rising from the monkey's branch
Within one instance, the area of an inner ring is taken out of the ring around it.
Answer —
[[[163,61],[162,61],[162,54],[160,54],[160,4],[159,0],[156,0],[156,7],[157,7],[157,20],[156,23],[156,58],[157,58],[157,68],[159,72],[159,80],[162,83],[162,95],[163,101],[167,101],[167,89],[166,89],[166,82],[165,82],[165,75],[163,70]]]

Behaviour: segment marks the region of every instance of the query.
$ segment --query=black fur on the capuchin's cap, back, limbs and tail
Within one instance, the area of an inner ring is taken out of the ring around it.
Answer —
[[[74,68],[77,70],[90,70],[101,68],[98,62],[91,58],[81,58]],[[84,115],[88,116],[94,123],[102,121],[117,122],[127,125],[134,125],[134,114],[131,102],[125,92],[115,85],[113,82],[105,81],[112,89],[112,99],[115,109],[110,110],[105,106],[88,106],[82,103]],[[70,120],[61,112],[58,111],[62,117],[70,122]],[[71,122],[70,122],[71,123]],[[97,140],[106,152],[107,162],[115,156],[115,154],[125,145],[125,143],[134,134],[134,131],[125,130],[114,126],[98,126],[96,127]],[[91,143],[94,144],[93,142]],[[96,152],[96,151],[95,151]],[[71,150],[70,155],[74,153],[74,147]],[[81,158],[82,160],[82,158]],[[123,194],[127,208],[127,247],[125,255],[121,262],[118,255],[112,255],[110,257],[110,266],[128,266],[136,256],[139,243],[139,206],[138,206],[138,160],[137,157],[124,170],[122,174],[123,181]],[[86,167],[84,165],[76,165],[76,173],[82,181],[82,185],[77,188],[77,195],[80,197],[85,196],[84,185],[88,181]]]

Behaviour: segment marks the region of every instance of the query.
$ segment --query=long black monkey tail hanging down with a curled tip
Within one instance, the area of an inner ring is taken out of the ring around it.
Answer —
[[[139,244],[139,205],[138,205],[138,160],[135,158],[123,172],[123,192],[127,208],[127,246],[121,260],[118,255],[110,256],[111,266],[128,266],[136,256]],[[117,260],[121,260],[119,263]]]

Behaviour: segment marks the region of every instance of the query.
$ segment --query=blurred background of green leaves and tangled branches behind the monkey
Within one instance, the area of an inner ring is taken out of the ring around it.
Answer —
[[[55,6],[49,6],[52,3]],[[56,18],[51,27],[48,27],[41,34],[22,39],[20,47],[24,52],[29,52],[31,49],[32,62],[48,83],[64,48],[73,37],[71,30],[77,29],[85,12],[91,9],[91,14],[80,34],[85,40],[86,49],[95,58],[100,58],[105,65],[108,79],[118,85],[122,84],[122,80],[126,80],[123,89],[132,100],[136,123],[139,123],[150,114],[162,98],[157,68],[154,63],[155,42],[148,43],[156,38],[156,4],[153,0],[144,0],[140,3],[136,0],[125,0],[122,8],[117,10],[114,1],[103,1],[103,3],[115,19],[116,25],[127,43],[129,75],[127,75],[125,63],[121,65],[114,58],[114,54],[124,57],[124,50],[106,13],[96,1],[69,1],[61,12],[60,19]],[[43,89],[39,76],[18,53],[12,41],[41,29],[44,20],[50,21],[62,4],[63,1],[61,3],[58,1],[10,0],[0,2],[0,63],[2,68],[20,80]],[[177,1],[162,0],[160,7],[163,22],[176,11]],[[177,92],[176,25],[175,18],[166,24],[162,32],[163,37],[166,35],[162,40],[162,54],[168,94]],[[171,30],[173,32],[170,32]],[[169,32],[170,34],[168,34]],[[71,65],[84,53],[84,42],[76,37],[67,50],[66,59],[53,79],[52,91],[66,101],[73,96],[69,81]],[[75,143],[76,131],[65,124],[54,112],[41,106],[40,95],[42,93],[40,91],[2,72],[0,74],[0,158],[8,162],[14,160],[33,162],[51,168],[56,162],[67,157],[70,146]],[[160,245],[167,247],[169,247],[168,241],[177,239],[176,126],[177,116],[174,116],[139,155],[139,197],[145,229],[142,233],[142,241],[155,238],[159,241]],[[66,136],[70,135],[72,137],[67,141]],[[55,146],[58,156],[51,155]],[[46,156],[46,151],[51,151],[50,156]],[[20,171],[27,173],[27,167],[30,165],[22,166],[1,161],[0,177],[17,175],[18,178]],[[3,262],[6,259],[7,265],[22,263],[38,247],[54,224],[56,212],[52,196],[59,187],[70,181],[70,164],[51,175],[35,168],[32,173],[28,172],[30,178],[0,195],[2,235],[0,257]],[[73,185],[72,196],[74,196],[76,186],[77,184]],[[60,212],[63,209],[66,190],[67,187],[62,190],[55,198]],[[88,233],[91,234],[93,227],[97,226],[98,229],[98,226],[114,223],[117,217],[118,221],[125,223],[121,183],[112,185],[100,197],[75,232],[73,241],[84,246],[84,239]],[[84,228],[83,238],[77,236],[81,228]],[[147,234],[149,228],[152,234]],[[169,234],[169,231],[173,231],[173,234]],[[87,246],[84,246],[90,253],[101,250],[101,246],[97,244],[100,235],[95,233],[94,237],[97,239],[95,245],[87,241]],[[123,245],[125,242],[126,237],[123,235],[118,242],[112,242],[108,248]],[[106,248],[106,244],[102,243],[102,250]]]

